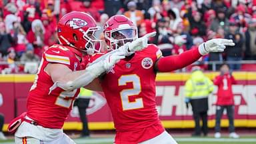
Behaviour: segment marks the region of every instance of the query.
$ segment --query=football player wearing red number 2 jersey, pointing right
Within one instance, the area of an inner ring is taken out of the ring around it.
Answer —
[[[104,27],[109,51],[138,39],[137,27],[125,16],[111,17]],[[139,39],[143,39],[139,38]],[[181,55],[162,57],[156,45],[130,52],[101,77],[113,115],[115,143],[176,143],[159,120],[155,102],[156,72],[170,72],[197,61],[209,52],[222,52],[232,40],[212,39]],[[97,59],[95,60],[97,62]]]

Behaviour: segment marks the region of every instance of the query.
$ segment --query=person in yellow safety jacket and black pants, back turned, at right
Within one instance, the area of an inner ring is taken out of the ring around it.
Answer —
[[[185,103],[191,103],[195,132],[192,136],[201,135],[200,118],[203,121],[203,135],[207,136],[208,95],[213,91],[213,82],[198,68],[194,68],[191,77],[185,83]]]

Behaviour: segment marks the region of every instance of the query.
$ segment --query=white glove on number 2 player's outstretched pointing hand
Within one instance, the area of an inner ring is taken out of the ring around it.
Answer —
[[[227,46],[234,46],[232,39],[211,39],[205,43],[199,45],[199,53],[201,55],[207,55],[211,52],[223,52]]]

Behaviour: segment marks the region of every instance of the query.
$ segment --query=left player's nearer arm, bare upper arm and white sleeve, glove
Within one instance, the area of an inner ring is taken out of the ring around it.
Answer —
[[[47,67],[45,67],[45,71],[51,76],[54,82],[54,85],[50,88],[50,92],[55,89],[55,87],[60,87],[65,91],[73,91],[74,89],[89,85],[93,79],[111,69],[119,59],[123,59],[124,57],[123,53],[113,53],[113,55],[105,57],[103,61],[93,63],[82,71],[71,71],[71,69],[65,65],[49,63]]]

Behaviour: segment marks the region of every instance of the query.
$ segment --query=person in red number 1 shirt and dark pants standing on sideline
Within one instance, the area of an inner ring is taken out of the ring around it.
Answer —
[[[221,74],[214,80],[214,85],[217,85],[217,108],[216,108],[216,122],[215,122],[215,138],[221,137],[221,117],[224,109],[227,110],[227,117],[229,118],[229,137],[239,138],[235,133],[234,127],[234,95],[232,85],[236,83],[235,78],[229,71],[229,65],[221,65]]]

